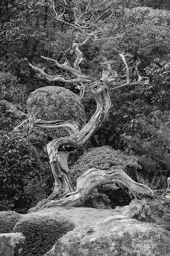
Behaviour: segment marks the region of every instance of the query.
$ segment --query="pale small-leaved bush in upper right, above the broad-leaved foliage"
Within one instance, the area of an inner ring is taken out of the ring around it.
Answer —
[[[149,7],[125,9],[124,39],[120,47],[131,53],[133,61],[141,60],[141,71],[155,58],[168,60],[170,51],[170,14]]]

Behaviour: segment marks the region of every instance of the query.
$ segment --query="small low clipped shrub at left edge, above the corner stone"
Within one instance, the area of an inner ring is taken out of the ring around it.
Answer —
[[[11,233],[15,224],[23,218],[17,212],[0,212],[0,233]]]

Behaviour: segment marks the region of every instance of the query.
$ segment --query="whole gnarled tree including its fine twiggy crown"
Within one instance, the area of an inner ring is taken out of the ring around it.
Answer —
[[[47,145],[55,184],[52,194],[39,202],[36,209],[60,205],[81,206],[86,195],[94,187],[108,183],[121,183],[134,193],[137,192],[138,194],[152,195],[153,193],[147,186],[133,181],[122,170],[111,169],[101,171],[98,169],[90,169],[78,177],[75,189],[70,180],[70,171],[67,165],[70,151],[81,147],[87,140],[89,140],[107,117],[111,107],[108,88],[110,87],[110,90],[115,90],[123,86],[148,83],[147,77],[139,75],[137,68],[138,63],[135,64],[137,79],[136,81],[131,82],[129,77],[129,67],[125,59],[127,55],[125,55],[124,52],[119,52],[114,49],[117,54],[116,60],[106,59],[106,42],[110,45],[109,47],[113,47],[110,42],[113,41],[114,37],[110,36],[110,31],[114,29],[116,30],[118,26],[113,18],[113,13],[117,4],[115,4],[115,1],[102,2],[99,0],[97,3],[94,2],[95,1],[82,1],[83,12],[81,6],[78,4],[79,8],[74,9],[74,21],[70,23],[65,19],[67,15],[64,12],[59,13],[54,5],[51,14],[48,14],[51,18],[62,23],[63,26],[73,28],[75,37],[72,49],[67,49],[63,55],[65,60],[63,64],[60,64],[57,60],[42,57],[47,61],[53,61],[57,68],[67,71],[71,76],[58,74],[49,75],[41,68],[30,64],[33,69],[38,71],[49,81],[62,81],[65,83],[77,84],[77,87],[80,89],[80,96],[77,100],[80,100],[85,92],[91,92],[96,100],[96,112],[80,131],[78,128],[79,125],[75,121],[45,121],[39,119],[36,115],[30,116],[14,128],[14,131],[11,134],[12,139],[15,135],[26,135],[28,132],[31,132],[33,126],[49,129],[62,127],[70,134],[68,137],[54,139]],[[101,63],[103,72],[99,79],[81,72],[81,63],[85,59],[82,48],[89,44],[96,46],[99,50],[99,54],[103,58]],[[68,60],[69,54],[72,56],[71,62]],[[113,64],[119,65],[120,61],[123,61],[125,65],[126,74],[124,75],[118,75],[117,72],[112,69]],[[5,100],[1,100],[0,104],[5,104],[11,111],[16,112],[19,115],[25,115],[25,113],[18,111],[15,106]]]

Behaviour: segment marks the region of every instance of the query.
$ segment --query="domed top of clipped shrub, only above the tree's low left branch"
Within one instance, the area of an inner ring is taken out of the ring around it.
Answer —
[[[32,92],[27,100],[28,113],[44,120],[73,120],[85,123],[85,111],[77,95],[59,86],[46,86]]]

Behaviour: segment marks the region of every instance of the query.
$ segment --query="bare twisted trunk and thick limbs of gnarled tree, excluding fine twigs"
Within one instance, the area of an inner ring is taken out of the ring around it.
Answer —
[[[90,5],[89,5],[90,6]],[[88,6],[88,8],[90,8]],[[94,8],[94,6],[92,6]],[[97,7],[98,8],[98,7]],[[98,10],[98,9],[97,9]],[[108,12],[112,13],[111,5],[108,8],[101,9],[104,10],[103,13]],[[41,127],[41,128],[65,128],[70,136],[57,138],[50,141],[47,145],[47,151],[50,159],[50,165],[54,176],[54,189],[53,193],[48,196],[46,199],[39,202],[36,206],[36,209],[40,209],[41,207],[51,207],[51,206],[59,206],[59,205],[72,205],[72,206],[81,206],[84,202],[86,196],[89,192],[98,185],[108,184],[108,183],[121,183],[125,187],[129,188],[131,191],[141,192],[141,194],[152,194],[152,191],[144,185],[141,185],[137,182],[134,182],[127,174],[125,174],[122,170],[107,170],[101,171],[97,169],[90,169],[87,172],[83,173],[77,179],[76,189],[74,189],[71,180],[70,180],[70,170],[67,165],[67,159],[71,150],[75,148],[79,148],[82,146],[89,138],[94,134],[94,132],[98,129],[98,127],[103,123],[105,118],[107,117],[110,107],[111,100],[108,93],[108,86],[111,85],[111,90],[117,89],[122,86],[127,85],[136,85],[136,84],[144,84],[148,82],[146,77],[141,77],[138,74],[137,64],[135,65],[136,73],[138,76],[138,80],[136,82],[130,82],[129,78],[129,68],[126,63],[125,57],[121,52],[118,52],[117,60],[107,60],[100,42],[100,35],[98,31],[89,34],[89,28],[95,27],[95,22],[102,20],[104,16],[99,16],[96,20],[92,21],[83,21],[85,19],[83,15],[81,15],[74,24],[69,24],[62,19],[62,15],[58,15],[53,7],[53,11],[56,14],[56,18],[59,22],[63,22],[65,25],[70,25],[74,27],[77,31],[74,43],[72,45],[71,53],[75,54],[75,60],[73,63],[73,67],[69,60],[64,55],[65,62],[63,64],[59,64],[57,60],[49,59],[43,57],[46,60],[54,61],[57,68],[61,68],[67,72],[70,72],[73,79],[64,77],[62,75],[48,75],[41,68],[35,67],[30,64],[32,68],[40,72],[46,79],[49,81],[62,81],[66,83],[78,83],[78,88],[81,90],[80,99],[85,91],[90,91],[94,94],[96,100],[96,112],[91,117],[89,122],[79,131],[78,123],[75,121],[65,121],[65,120],[56,120],[56,121],[45,121],[41,119],[37,119],[36,115],[30,116],[29,118],[22,121],[17,127],[14,128],[14,131],[11,134],[11,138],[15,135],[26,135],[28,132],[31,132],[33,126]],[[102,12],[102,11],[101,11]],[[88,10],[87,10],[88,13]],[[94,10],[95,13],[95,10]],[[109,14],[110,15],[110,14]],[[111,16],[110,16],[111,17]],[[91,22],[91,23],[90,23]],[[96,29],[96,27],[95,27]],[[83,34],[85,36],[85,40],[82,43],[76,43],[78,41],[79,34]],[[99,39],[98,39],[99,38]],[[83,60],[83,54],[80,48],[89,43],[95,44],[103,57],[103,62],[101,65],[103,66],[103,73],[100,79],[96,79],[90,76],[87,76],[81,72],[80,63]],[[117,72],[112,70],[112,65],[119,65],[120,60],[123,60],[126,75],[118,76]],[[126,79],[120,82],[120,79]],[[144,81],[141,81],[145,78]],[[116,81],[118,79],[118,82]],[[10,108],[11,111],[16,112],[18,115],[25,115],[25,113],[17,110],[15,106],[11,103],[1,100],[0,104],[6,105],[7,108]],[[21,128],[24,127],[22,130]]]

